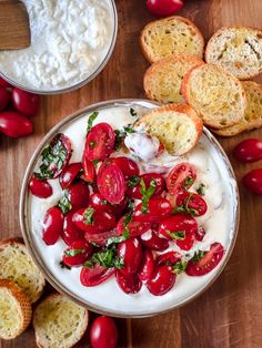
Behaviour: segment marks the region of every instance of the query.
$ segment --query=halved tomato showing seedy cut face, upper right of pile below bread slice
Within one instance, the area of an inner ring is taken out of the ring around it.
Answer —
[[[196,172],[193,165],[180,163],[171,170],[167,178],[168,191],[177,195],[180,191],[189,190],[195,181]]]

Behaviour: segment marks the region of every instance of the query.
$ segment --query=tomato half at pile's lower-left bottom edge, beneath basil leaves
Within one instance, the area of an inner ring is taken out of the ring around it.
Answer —
[[[105,268],[100,265],[95,265],[93,268],[83,267],[80,273],[80,282],[83,286],[95,286],[114,274],[114,268]]]

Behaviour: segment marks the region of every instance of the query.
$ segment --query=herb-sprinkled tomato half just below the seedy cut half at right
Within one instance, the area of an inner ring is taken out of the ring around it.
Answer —
[[[178,206],[187,207],[191,209],[195,216],[202,216],[208,211],[208,205],[200,195],[189,191],[182,191],[178,194],[177,201]]]

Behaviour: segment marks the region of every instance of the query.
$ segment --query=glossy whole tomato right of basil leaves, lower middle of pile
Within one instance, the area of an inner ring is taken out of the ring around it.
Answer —
[[[124,267],[119,269],[123,275],[130,275],[138,272],[142,260],[142,246],[139,239],[129,238],[118,245],[118,256],[123,260]]]

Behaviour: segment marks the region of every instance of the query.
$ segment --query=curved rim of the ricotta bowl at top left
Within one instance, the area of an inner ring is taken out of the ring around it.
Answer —
[[[118,37],[118,11],[117,11],[117,6],[114,3],[113,0],[108,0],[109,1],[109,6],[111,7],[112,10],[112,21],[113,21],[113,33],[112,33],[112,40],[110,43],[110,47],[108,49],[107,54],[104,55],[103,60],[101,61],[101,63],[99,64],[99,66],[92,72],[91,75],[89,75],[87,79],[77,82],[75,84],[71,85],[71,86],[66,86],[66,88],[61,88],[58,90],[36,90],[33,88],[27,86],[20,82],[17,82],[16,80],[10,79],[8,75],[6,75],[1,70],[0,70],[0,78],[4,79],[7,82],[9,82],[11,85],[19,88],[21,90],[24,90],[27,92],[30,93],[36,93],[36,94],[40,94],[40,95],[48,95],[48,94],[61,94],[61,93],[68,93],[68,92],[72,92],[74,90],[78,90],[80,88],[82,88],[83,85],[88,84],[89,82],[91,82],[94,78],[98,76],[98,74],[100,74],[100,72],[104,69],[104,66],[108,64],[115,43],[117,43],[117,37]]]

